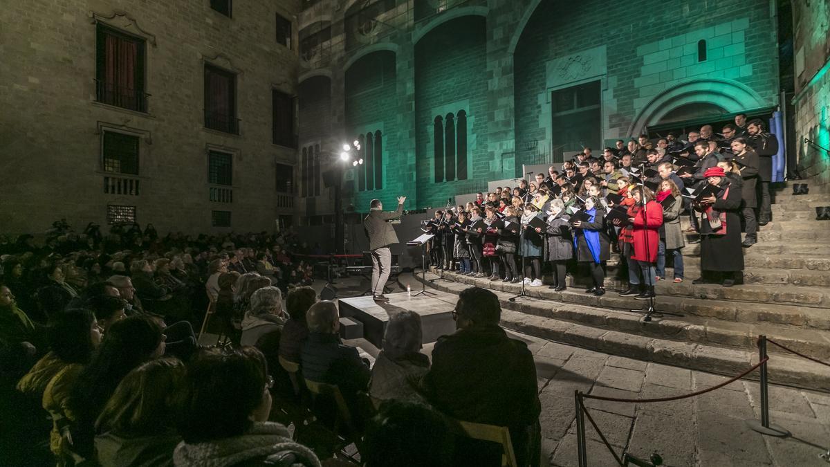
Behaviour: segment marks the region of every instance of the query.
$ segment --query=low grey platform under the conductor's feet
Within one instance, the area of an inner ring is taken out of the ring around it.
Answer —
[[[452,320],[452,309],[458,296],[453,293],[430,290],[428,294],[412,297],[407,292],[388,293],[388,303],[378,303],[372,296],[339,298],[340,317],[349,317],[363,324],[363,337],[375,347],[383,347],[383,332],[389,317],[406,310],[421,315],[423,328],[422,343],[435,342],[444,334],[452,334],[456,323]]]

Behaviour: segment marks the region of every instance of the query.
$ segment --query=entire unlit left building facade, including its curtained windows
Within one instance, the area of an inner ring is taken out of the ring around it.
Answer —
[[[274,229],[294,211],[299,10],[300,0],[9,2],[0,230],[42,232],[61,218],[76,229],[131,219],[161,233]]]

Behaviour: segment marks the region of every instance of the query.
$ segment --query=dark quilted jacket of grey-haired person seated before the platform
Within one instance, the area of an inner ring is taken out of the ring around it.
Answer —
[[[337,334],[310,332],[301,361],[306,379],[339,386],[345,397],[369,386],[369,366],[356,348],[340,343]]]

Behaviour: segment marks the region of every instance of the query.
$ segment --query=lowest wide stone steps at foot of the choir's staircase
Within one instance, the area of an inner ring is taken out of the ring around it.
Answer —
[[[436,276],[430,274],[430,277]],[[469,287],[469,284],[441,281],[433,283],[432,287],[458,293]],[[504,327],[535,337],[644,361],[736,375],[758,361],[753,342],[758,332],[769,332],[771,338],[788,347],[793,346],[797,351],[830,355],[830,343],[826,339],[823,341],[823,335],[817,332],[777,331],[777,327],[745,327],[740,323],[701,320],[696,317],[655,317],[654,321],[645,323],[638,313],[533,297],[509,302],[512,291],[497,289],[494,292],[500,298],[501,325]],[[774,346],[770,346],[770,381],[822,391],[830,389],[830,370],[827,367],[793,358],[777,349],[772,350],[772,347]]]

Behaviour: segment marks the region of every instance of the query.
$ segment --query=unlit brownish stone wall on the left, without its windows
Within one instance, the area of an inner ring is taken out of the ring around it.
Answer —
[[[165,232],[271,229],[275,164],[295,150],[271,143],[271,89],[296,95],[297,57],[276,43],[276,13],[299,0],[210,2],[33,0],[0,11],[0,230],[37,232],[65,217],[76,228],[106,222],[108,204],[136,208],[140,224]],[[147,112],[95,101],[96,23],[142,37]],[[296,43],[296,34],[293,37]],[[237,73],[240,135],[203,128],[206,63]],[[105,194],[101,130],[139,135],[139,195]],[[233,154],[232,203],[208,200],[207,148]],[[212,210],[230,228],[212,228]]]

